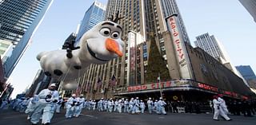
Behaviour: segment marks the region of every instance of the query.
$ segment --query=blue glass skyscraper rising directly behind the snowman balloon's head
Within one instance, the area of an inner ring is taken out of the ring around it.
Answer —
[[[105,13],[106,5],[95,1],[83,16],[76,41],[79,41],[82,35],[94,27],[94,25],[98,24],[98,22],[103,21],[105,19]]]

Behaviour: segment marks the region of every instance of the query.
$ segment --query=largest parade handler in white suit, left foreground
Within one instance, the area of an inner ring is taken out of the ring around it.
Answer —
[[[31,116],[30,122],[38,124],[42,115],[42,124],[50,124],[50,120],[54,115],[54,103],[58,101],[58,91],[55,90],[56,84],[50,84],[38,94],[37,107]],[[43,113],[42,113],[43,111]]]

